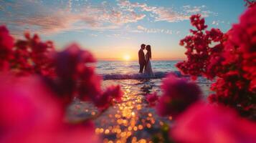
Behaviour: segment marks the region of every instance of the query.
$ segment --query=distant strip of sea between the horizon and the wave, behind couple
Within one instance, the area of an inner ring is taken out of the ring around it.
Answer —
[[[151,61],[155,78],[162,78],[169,72],[179,73],[176,63],[179,61]],[[143,79],[138,73],[138,61],[98,61],[96,71],[103,79]]]

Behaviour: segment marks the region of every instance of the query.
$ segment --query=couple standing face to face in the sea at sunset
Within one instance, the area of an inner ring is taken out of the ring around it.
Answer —
[[[146,55],[144,54],[144,49],[146,49]],[[152,67],[151,67],[151,46],[146,44],[141,44],[141,49],[138,51],[138,63],[140,64],[140,73],[144,74],[146,77],[154,77]]]

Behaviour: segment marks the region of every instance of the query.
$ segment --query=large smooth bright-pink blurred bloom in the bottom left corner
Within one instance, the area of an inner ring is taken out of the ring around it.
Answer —
[[[0,140],[29,136],[52,130],[60,124],[62,113],[52,92],[39,79],[0,77]],[[16,139],[18,142],[22,140]],[[1,142],[1,141],[0,141]]]

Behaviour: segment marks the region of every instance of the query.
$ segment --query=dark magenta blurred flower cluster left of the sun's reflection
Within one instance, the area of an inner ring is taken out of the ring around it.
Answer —
[[[70,104],[77,97],[103,109],[109,107],[113,99],[119,100],[123,96],[119,86],[102,91],[101,77],[92,66],[95,61],[89,51],[81,49],[77,44],[71,44],[64,51],[54,54],[57,77],[54,80],[47,79],[47,82],[63,104]]]

